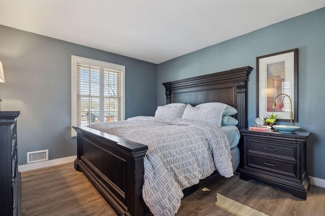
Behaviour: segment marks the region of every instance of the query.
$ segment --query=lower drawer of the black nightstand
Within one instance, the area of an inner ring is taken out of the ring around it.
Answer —
[[[266,171],[277,172],[280,175],[288,175],[290,177],[297,176],[297,163],[284,160],[277,160],[273,158],[248,155],[248,166],[254,168],[262,168]]]

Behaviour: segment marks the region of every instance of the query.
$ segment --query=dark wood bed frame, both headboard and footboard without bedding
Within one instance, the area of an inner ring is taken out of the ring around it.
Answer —
[[[247,127],[247,81],[251,67],[163,83],[167,104],[222,102],[235,107],[238,127]],[[83,171],[119,215],[146,215],[142,198],[146,145],[89,127],[77,131],[75,169]],[[241,144],[239,144],[241,149]],[[86,189],[85,189],[86,190]]]

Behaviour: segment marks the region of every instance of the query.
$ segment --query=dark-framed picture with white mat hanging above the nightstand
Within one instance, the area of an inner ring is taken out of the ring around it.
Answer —
[[[298,122],[298,49],[256,57],[256,84],[257,117],[273,113],[277,121],[290,122],[292,109],[293,122]]]

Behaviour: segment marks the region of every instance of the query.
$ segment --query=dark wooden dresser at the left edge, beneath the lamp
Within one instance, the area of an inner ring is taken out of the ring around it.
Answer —
[[[0,215],[20,215],[21,179],[17,162],[19,111],[0,111]]]

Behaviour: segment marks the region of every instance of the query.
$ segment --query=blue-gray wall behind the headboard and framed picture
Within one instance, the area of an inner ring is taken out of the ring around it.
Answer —
[[[289,19],[158,65],[158,105],[164,105],[161,83],[251,66],[248,120],[256,117],[256,57],[299,49],[299,125],[312,132],[307,146],[307,174],[325,179],[325,8]]]

